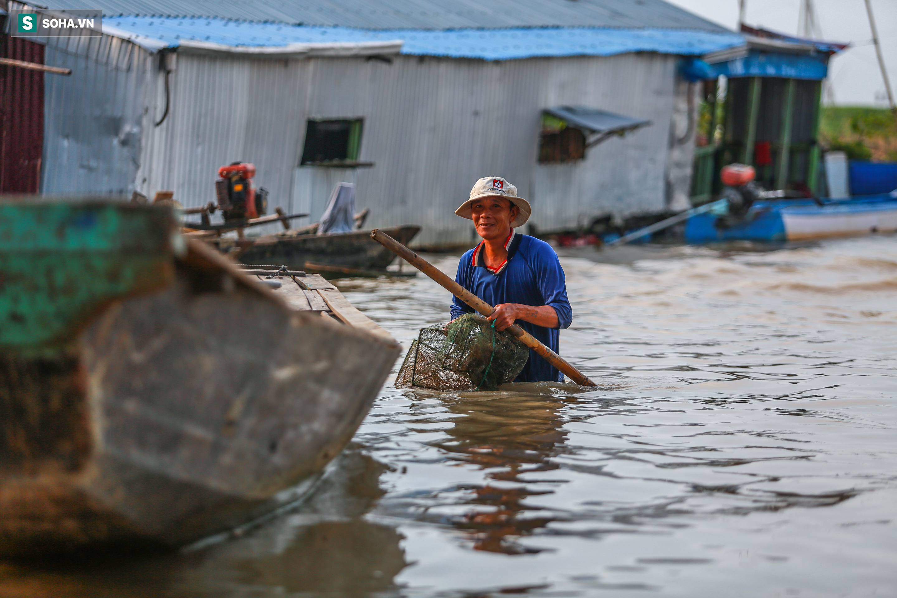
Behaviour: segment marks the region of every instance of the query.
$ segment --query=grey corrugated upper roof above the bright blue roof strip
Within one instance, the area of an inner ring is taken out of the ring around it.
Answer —
[[[726,31],[664,0],[66,0],[105,14],[205,16],[361,29],[655,27]]]

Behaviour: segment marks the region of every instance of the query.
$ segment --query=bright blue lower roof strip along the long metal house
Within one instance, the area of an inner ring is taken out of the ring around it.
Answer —
[[[242,47],[281,47],[297,43],[366,42],[401,39],[401,53],[509,60],[535,56],[612,56],[658,52],[701,56],[740,46],[745,39],[731,32],[597,27],[516,28],[491,30],[362,30],[273,22],[178,17],[106,17],[103,24],[170,48],[180,39]]]

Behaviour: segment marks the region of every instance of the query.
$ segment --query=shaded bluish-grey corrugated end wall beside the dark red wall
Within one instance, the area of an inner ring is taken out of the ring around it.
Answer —
[[[46,56],[72,74],[47,75],[41,192],[129,195],[158,57],[108,35],[48,38]]]

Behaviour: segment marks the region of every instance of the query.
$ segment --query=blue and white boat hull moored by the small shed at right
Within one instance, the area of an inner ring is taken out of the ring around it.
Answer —
[[[809,199],[758,202],[744,222],[723,230],[716,228],[715,216],[698,214],[685,225],[685,241],[783,242],[897,231],[897,197],[891,194],[827,201],[824,205]]]

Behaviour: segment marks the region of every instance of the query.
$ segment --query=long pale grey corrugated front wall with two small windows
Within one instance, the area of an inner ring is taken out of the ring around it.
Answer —
[[[394,56],[391,64],[181,55],[170,115],[144,134],[137,188],[146,195],[172,189],[187,206],[205,204],[218,167],[248,160],[272,205],[308,210],[315,219],[335,182],[354,182],[370,225],[421,224],[416,242],[428,246],[470,241],[472,227],[454,211],[487,175],[517,185],[543,230],[598,213],[659,211],[666,206],[675,62],[656,54],[506,62]],[[147,87],[149,112],[158,116],[161,82],[156,73]],[[653,125],[597,146],[578,164],[538,165],[541,110],[563,104]],[[363,117],[360,159],[375,166],[299,168],[309,117]]]

